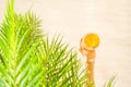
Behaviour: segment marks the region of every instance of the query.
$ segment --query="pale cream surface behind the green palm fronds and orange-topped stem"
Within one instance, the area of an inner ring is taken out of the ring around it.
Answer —
[[[5,0],[0,0],[0,21],[4,4]],[[44,30],[50,35],[61,32],[76,49],[84,34],[98,34],[97,87],[114,74],[115,87],[131,87],[131,0],[15,0],[16,12],[28,9],[43,20]]]

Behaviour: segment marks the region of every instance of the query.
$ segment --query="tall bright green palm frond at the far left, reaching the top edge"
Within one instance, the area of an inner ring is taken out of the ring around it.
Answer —
[[[14,13],[13,2],[8,2],[0,28],[0,78],[5,87],[25,87],[38,82],[43,73],[35,55],[43,40],[40,21],[32,13]]]

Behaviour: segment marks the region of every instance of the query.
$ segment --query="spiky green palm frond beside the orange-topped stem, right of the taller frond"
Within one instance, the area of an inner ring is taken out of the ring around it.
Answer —
[[[46,86],[51,87],[81,87],[85,84],[80,76],[78,53],[69,49],[57,36],[49,42],[48,36],[44,39],[44,58],[46,58]],[[86,78],[85,78],[86,79]]]

